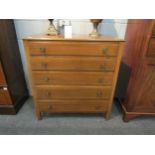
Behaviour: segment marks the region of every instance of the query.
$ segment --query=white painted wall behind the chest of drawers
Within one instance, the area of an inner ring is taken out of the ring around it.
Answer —
[[[55,20],[55,22],[57,22]],[[89,34],[92,31],[92,24],[88,19],[72,19],[73,34]],[[18,44],[22,57],[26,81],[31,90],[28,80],[28,71],[23,48],[22,38],[29,35],[45,33],[48,27],[48,20],[14,20]],[[127,19],[105,19],[99,25],[99,32],[103,35],[124,38],[127,26]],[[31,91],[30,91],[31,92]]]

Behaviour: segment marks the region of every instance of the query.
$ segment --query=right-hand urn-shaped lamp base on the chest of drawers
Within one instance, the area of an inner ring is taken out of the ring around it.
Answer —
[[[90,21],[93,23],[93,31],[90,33],[91,37],[97,37],[100,34],[97,32],[97,27],[99,23],[102,21],[102,19],[90,19]]]

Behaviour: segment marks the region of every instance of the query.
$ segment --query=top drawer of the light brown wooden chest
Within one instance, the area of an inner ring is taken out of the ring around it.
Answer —
[[[31,56],[117,56],[118,44],[115,42],[53,42],[31,41],[29,43]]]

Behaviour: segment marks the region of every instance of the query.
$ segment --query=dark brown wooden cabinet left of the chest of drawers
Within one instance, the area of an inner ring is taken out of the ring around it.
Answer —
[[[16,114],[28,98],[13,20],[0,20],[0,114]]]

